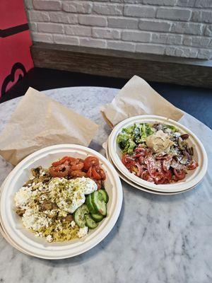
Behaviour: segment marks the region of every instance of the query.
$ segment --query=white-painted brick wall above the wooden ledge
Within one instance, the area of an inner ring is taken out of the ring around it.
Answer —
[[[212,59],[212,0],[25,0],[34,41]]]

